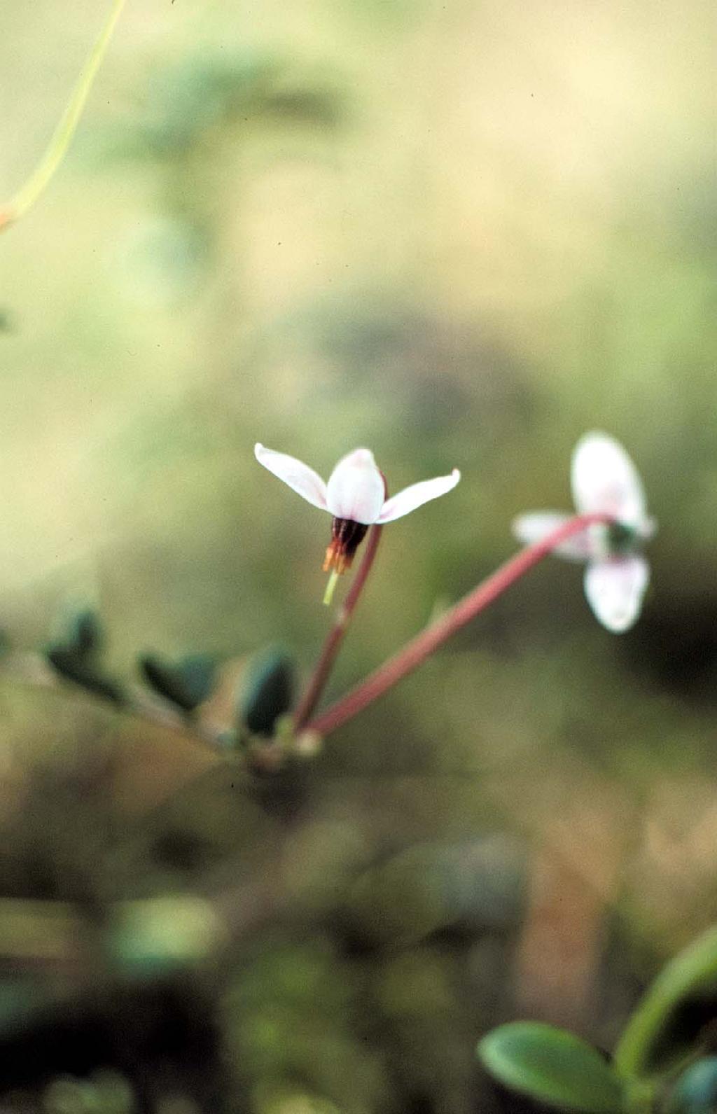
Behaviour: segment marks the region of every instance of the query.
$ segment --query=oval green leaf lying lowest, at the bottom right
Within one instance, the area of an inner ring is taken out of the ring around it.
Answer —
[[[539,1022],[493,1029],[478,1046],[483,1066],[504,1086],[576,1114],[618,1114],[622,1085],[591,1045]]]

